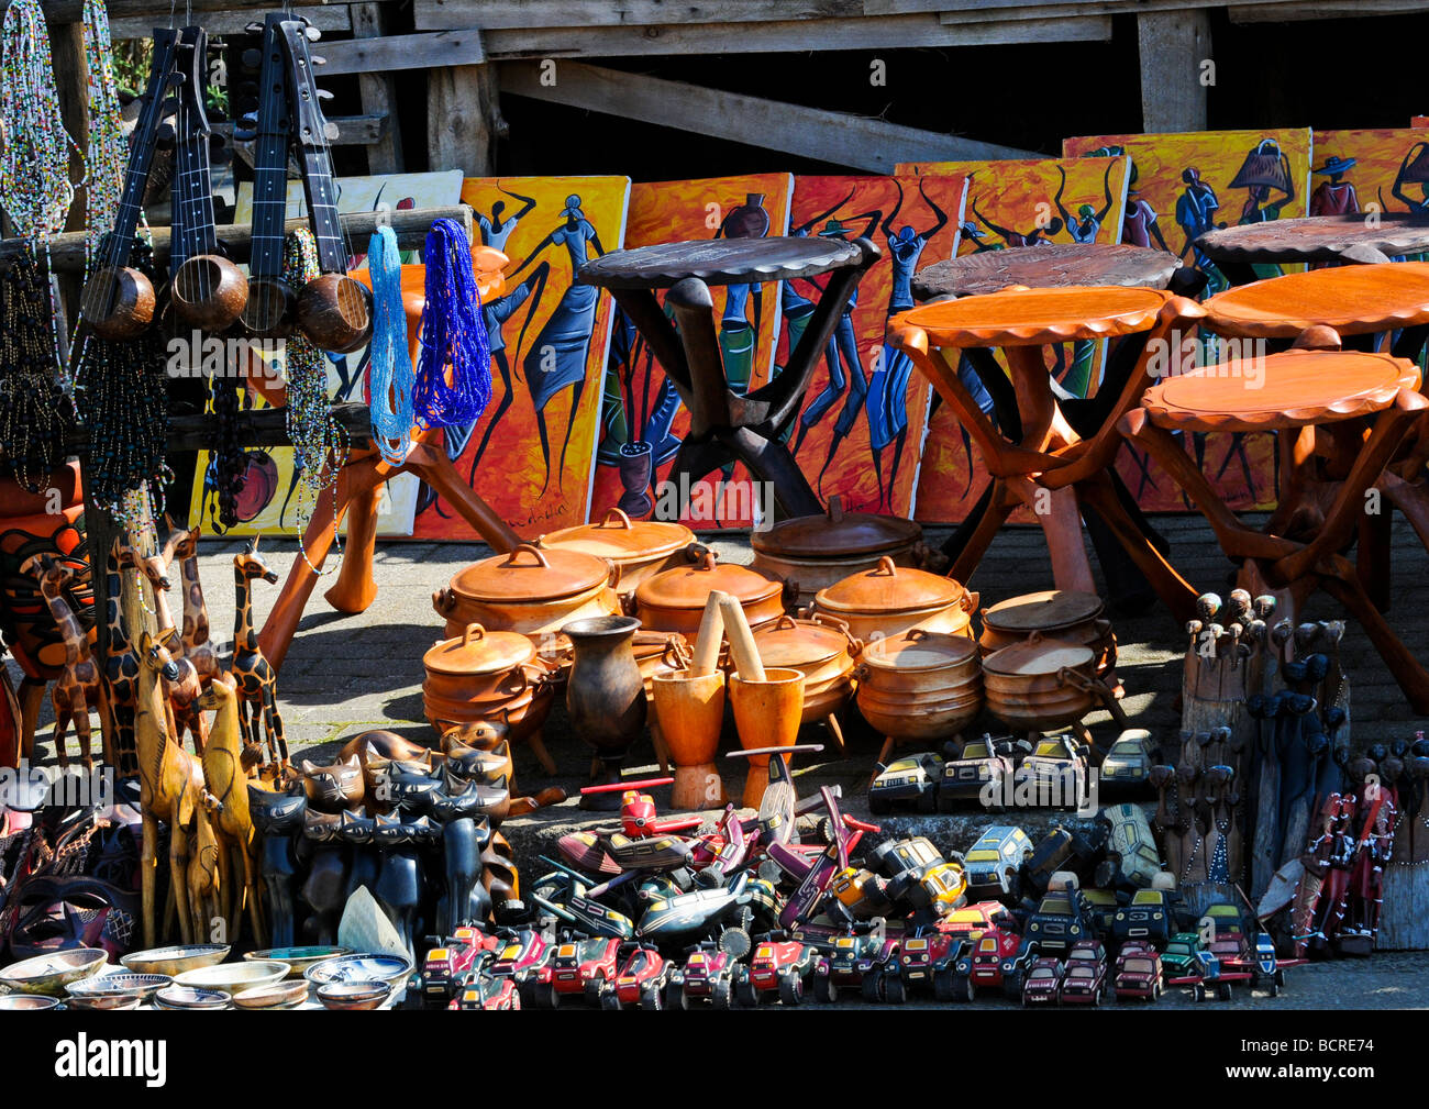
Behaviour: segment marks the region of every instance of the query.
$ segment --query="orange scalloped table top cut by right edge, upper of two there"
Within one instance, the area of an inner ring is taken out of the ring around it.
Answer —
[[[1429,323],[1429,264],[1340,266],[1268,277],[1218,293],[1202,326],[1218,334],[1295,339],[1326,324],[1365,334]]]

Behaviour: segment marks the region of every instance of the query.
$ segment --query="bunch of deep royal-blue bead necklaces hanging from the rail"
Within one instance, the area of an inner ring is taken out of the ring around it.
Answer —
[[[426,310],[412,404],[423,427],[476,423],[492,399],[492,350],[472,240],[456,220],[437,220],[427,232],[424,257]]]

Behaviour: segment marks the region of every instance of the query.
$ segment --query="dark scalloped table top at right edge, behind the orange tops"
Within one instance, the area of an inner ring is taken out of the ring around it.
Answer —
[[[1232,284],[1253,282],[1256,264],[1389,262],[1429,252],[1429,217],[1409,212],[1306,216],[1218,227],[1196,240]]]

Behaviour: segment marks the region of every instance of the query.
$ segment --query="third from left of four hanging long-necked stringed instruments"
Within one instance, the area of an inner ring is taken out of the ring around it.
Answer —
[[[279,29],[286,19],[282,11],[270,11],[263,26],[259,103],[253,126],[253,253],[249,259],[249,303],[243,309],[243,326],[263,337],[290,334],[297,303],[297,293],[283,280],[292,124]]]

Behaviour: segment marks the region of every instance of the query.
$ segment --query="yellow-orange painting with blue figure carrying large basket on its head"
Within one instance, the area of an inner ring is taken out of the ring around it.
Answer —
[[[1066,139],[1062,153],[1126,154],[1132,181],[1122,242],[1169,250],[1206,277],[1203,296],[1229,287],[1215,262],[1195,240],[1212,227],[1295,219],[1310,200],[1310,131],[1190,131],[1185,134],[1112,134]],[[1256,267],[1262,277],[1280,273]],[[1208,347],[1208,359],[1213,349]],[[1186,437],[1186,449],[1232,509],[1275,503],[1275,443],[1269,434]],[[1183,512],[1180,489],[1140,452],[1123,444],[1117,472],[1149,512]]]

